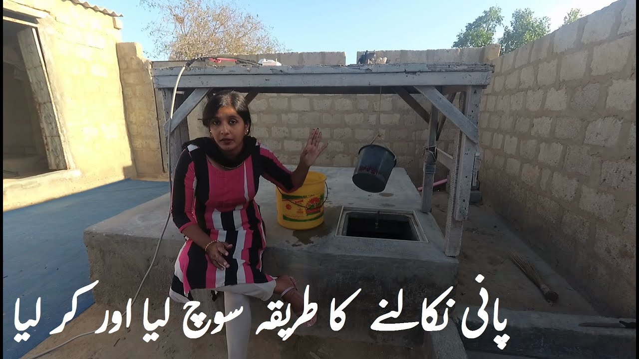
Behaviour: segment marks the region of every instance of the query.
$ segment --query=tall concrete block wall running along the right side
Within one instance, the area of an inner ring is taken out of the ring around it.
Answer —
[[[495,59],[481,191],[610,316],[636,315],[636,1]]]

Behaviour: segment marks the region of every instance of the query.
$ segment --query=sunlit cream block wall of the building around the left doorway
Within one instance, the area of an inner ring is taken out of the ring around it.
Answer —
[[[3,185],[3,209],[134,177],[116,56],[116,43],[121,42],[119,22],[70,1],[9,3],[48,14],[38,19],[38,31],[43,53],[52,58],[46,64],[47,73],[69,171]]]

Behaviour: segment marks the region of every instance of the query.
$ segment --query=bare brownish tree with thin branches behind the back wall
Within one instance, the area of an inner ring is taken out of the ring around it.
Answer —
[[[159,17],[147,27],[155,41],[155,56],[187,60],[284,50],[270,27],[232,1],[141,0],[142,6]]]

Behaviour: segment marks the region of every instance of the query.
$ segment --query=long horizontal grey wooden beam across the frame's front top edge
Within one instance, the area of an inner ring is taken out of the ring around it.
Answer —
[[[235,66],[229,66],[232,68]],[[273,67],[273,66],[269,66]],[[157,69],[160,70],[160,69]],[[151,70],[153,71],[153,70]],[[177,75],[153,75],[155,88],[174,88]],[[488,85],[489,72],[406,72],[406,73],[218,73],[193,75],[184,72],[180,77],[182,88],[336,88],[362,86],[443,86]]]

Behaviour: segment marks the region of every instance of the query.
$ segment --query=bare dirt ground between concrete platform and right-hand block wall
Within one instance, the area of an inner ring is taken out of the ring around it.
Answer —
[[[445,233],[448,194],[435,192],[433,217]],[[541,279],[559,295],[551,305],[541,291],[512,263],[511,252],[532,263]],[[459,259],[458,291],[455,301],[465,305],[481,305],[479,290],[486,288],[489,303],[499,298],[499,307],[511,310],[536,310],[562,314],[597,315],[580,293],[571,288],[553,268],[545,263],[517,235],[517,230],[500,218],[486,204],[470,206],[468,220],[464,222]],[[485,277],[479,284],[475,277]]]

